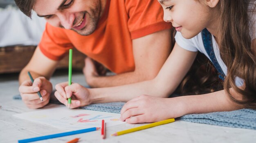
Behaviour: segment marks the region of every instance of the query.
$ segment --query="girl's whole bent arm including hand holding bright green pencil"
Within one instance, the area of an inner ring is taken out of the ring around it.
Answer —
[[[175,44],[173,51],[153,80],[95,89],[86,89],[78,84],[67,86],[67,83],[60,83],[55,87],[57,90],[55,96],[60,102],[67,104],[67,98],[72,95],[74,99],[72,99],[72,108],[92,103],[127,102],[143,94],[167,98],[189,71],[196,54],[197,52],[184,50]]]

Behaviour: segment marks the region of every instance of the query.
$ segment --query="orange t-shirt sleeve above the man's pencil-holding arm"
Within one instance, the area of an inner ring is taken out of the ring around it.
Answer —
[[[45,56],[58,61],[67,55],[68,50],[72,49],[73,45],[63,29],[46,23],[39,48]]]

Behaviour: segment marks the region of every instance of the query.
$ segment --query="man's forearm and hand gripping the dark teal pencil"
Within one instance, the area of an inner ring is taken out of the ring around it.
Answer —
[[[19,76],[20,95],[27,107],[41,108],[49,103],[50,94],[52,93],[52,83],[49,82],[49,78],[52,76],[57,64],[58,61],[47,58],[39,47],[36,48],[31,60],[22,69]],[[30,81],[27,72],[30,72],[34,78],[33,83]],[[38,91],[43,96],[43,101],[39,99]]]

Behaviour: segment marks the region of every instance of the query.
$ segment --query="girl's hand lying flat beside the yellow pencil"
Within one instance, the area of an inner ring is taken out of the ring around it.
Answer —
[[[128,101],[121,110],[121,121],[129,124],[152,123],[184,115],[179,98],[141,95]]]

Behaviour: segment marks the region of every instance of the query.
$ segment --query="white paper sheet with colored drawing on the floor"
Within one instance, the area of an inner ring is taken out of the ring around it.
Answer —
[[[120,114],[117,113],[68,109],[67,107],[14,114],[13,116],[66,130],[101,127],[102,119],[105,120],[107,127],[125,123],[119,121]]]

